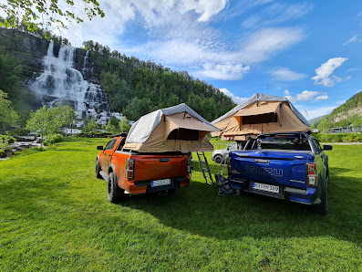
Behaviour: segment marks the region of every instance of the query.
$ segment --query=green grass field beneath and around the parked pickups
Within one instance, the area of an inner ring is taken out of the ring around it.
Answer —
[[[106,141],[0,162],[0,271],[362,270],[362,146],[328,152],[321,216],[259,195],[218,196],[197,167],[175,194],[109,204],[94,176]]]

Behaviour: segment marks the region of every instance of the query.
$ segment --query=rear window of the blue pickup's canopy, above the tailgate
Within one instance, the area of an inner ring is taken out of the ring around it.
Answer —
[[[276,135],[257,139],[254,149],[279,149],[295,151],[311,151],[308,139],[303,135]]]

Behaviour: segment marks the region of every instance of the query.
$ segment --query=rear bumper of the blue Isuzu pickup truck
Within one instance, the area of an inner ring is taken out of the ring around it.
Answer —
[[[244,180],[244,179],[237,179],[237,178],[230,178],[229,177],[229,185],[234,189],[238,189],[245,192],[250,192],[253,194],[262,194],[265,196],[270,196],[278,199],[284,199],[288,201],[293,201],[301,204],[317,204],[319,200],[319,196],[316,195],[317,190],[314,187],[307,187],[306,189],[296,188],[292,186],[279,186],[279,193],[270,193],[265,192],[257,189],[253,189],[253,182],[252,180]],[[256,183],[261,183],[257,182]],[[274,185],[275,184],[271,184]]]

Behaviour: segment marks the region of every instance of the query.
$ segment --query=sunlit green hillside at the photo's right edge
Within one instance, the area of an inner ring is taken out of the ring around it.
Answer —
[[[320,131],[334,127],[346,127],[349,125],[362,124],[362,91],[358,92],[344,104],[337,107],[319,124],[315,124]]]

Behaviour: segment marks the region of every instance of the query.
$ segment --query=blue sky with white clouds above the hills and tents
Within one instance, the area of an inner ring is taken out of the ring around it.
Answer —
[[[235,102],[285,96],[307,119],[362,90],[362,1],[101,0],[60,34],[186,70]],[[306,112],[306,113],[305,113]]]

